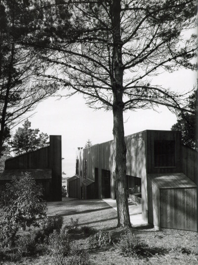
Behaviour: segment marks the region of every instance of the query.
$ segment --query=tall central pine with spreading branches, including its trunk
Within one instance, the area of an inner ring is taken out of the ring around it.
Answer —
[[[51,0],[45,16],[48,43],[27,41],[42,49],[45,65],[54,68],[54,74],[39,76],[59,81],[69,89],[66,96],[83,93],[89,107],[112,110],[118,226],[131,226],[123,112],[165,105],[173,112],[194,113],[185,95],[155,83],[154,76],[182,66],[196,68],[192,64],[196,35],[184,36],[196,27],[196,4],[195,0]]]

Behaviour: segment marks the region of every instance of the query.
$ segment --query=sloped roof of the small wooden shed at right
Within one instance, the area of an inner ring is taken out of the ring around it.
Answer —
[[[159,189],[196,188],[197,185],[184,173],[148,174]]]

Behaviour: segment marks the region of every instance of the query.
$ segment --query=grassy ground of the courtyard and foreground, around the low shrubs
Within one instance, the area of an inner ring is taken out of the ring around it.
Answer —
[[[66,198],[67,199],[67,198]],[[123,257],[116,244],[107,248],[89,249],[89,237],[81,231],[82,226],[109,231],[115,238],[122,238],[123,228],[116,228],[117,212],[104,201],[96,200],[66,200],[48,203],[48,215],[63,216],[63,225],[70,223],[71,217],[79,219],[78,227],[71,233],[71,239],[79,249],[88,249],[90,265],[197,265],[198,264],[198,234],[187,231],[154,231],[149,226],[133,227],[131,230],[140,240],[148,245],[152,255],[149,257]],[[17,265],[7,262],[3,265]],[[19,264],[19,263],[18,263]],[[24,258],[20,265],[49,265],[50,257],[41,254],[38,257]]]

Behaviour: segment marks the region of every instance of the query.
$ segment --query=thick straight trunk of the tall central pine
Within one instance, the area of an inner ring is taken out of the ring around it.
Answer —
[[[126,187],[126,144],[123,123],[123,67],[122,42],[120,32],[120,0],[113,0],[113,154],[115,159],[115,192],[117,202],[118,227],[131,227]]]

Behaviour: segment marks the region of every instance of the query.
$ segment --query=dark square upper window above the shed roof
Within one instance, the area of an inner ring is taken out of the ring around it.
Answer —
[[[154,166],[175,167],[175,141],[154,141]]]

